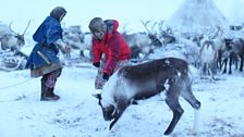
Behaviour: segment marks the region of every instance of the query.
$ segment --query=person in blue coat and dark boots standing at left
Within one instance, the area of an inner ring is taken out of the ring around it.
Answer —
[[[41,101],[60,99],[53,90],[63,66],[58,53],[60,50],[63,53],[69,50],[69,45],[62,40],[63,30],[60,24],[65,14],[64,8],[54,8],[33,35],[37,43],[28,57],[26,67],[30,68],[32,77],[42,76]]]

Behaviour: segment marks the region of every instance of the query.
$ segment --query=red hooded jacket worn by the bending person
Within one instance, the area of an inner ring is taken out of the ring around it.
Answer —
[[[97,40],[93,37],[94,63],[100,62],[102,53],[107,60],[103,73],[111,75],[120,60],[131,58],[131,49],[127,46],[123,36],[117,30],[119,27],[118,21],[107,20],[106,34],[102,40]]]

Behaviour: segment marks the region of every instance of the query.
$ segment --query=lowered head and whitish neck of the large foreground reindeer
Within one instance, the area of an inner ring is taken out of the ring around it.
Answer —
[[[120,74],[118,74],[120,72]],[[131,98],[124,95],[129,90],[123,75],[124,70],[119,70],[105,84],[101,94],[94,95],[102,110],[105,121],[111,121],[109,129],[118,122],[125,109],[131,103]],[[123,80],[123,82],[122,82]],[[124,89],[124,87],[126,87]]]

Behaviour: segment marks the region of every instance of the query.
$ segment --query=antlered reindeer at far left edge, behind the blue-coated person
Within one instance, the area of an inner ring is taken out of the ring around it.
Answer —
[[[1,42],[1,50],[5,49],[19,49],[21,46],[25,45],[24,35],[30,24],[30,21],[28,22],[24,33],[22,35],[15,33],[12,28],[10,23],[9,26],[4,24],[0,24],[0,42]]]

